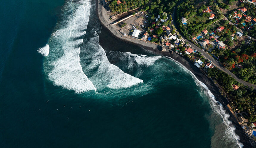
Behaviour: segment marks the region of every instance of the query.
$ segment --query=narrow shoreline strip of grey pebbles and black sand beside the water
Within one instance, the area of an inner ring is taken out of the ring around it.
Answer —
[[[117,30],[117,28],[115,28],[115,26],[110,25],[111,21],[109,20],[109,16],[107,15],[107,12],[106,12],[104,6],[102,5],[101,0],[96,0],[96,15],[99,18],[100,23],[102,24],[102,27],[106,28],[106,30],[109,32],[109,34],[111,34],[114,38],[117,38],[117,40],[120,39],[129,44],[134,44],[134,45],[140,46],[140,47],[142,47],[146,50],[149,50],[157,55],[166,56],[167,58],[170,57],[170,58],[176,60],[177,62],[181,63],[188,70],[190,70],[196,76],[196,78],[198,78],[199,81],[201,81],[208,87],[208,89],[215,96],[215,99],[218,102],[220,102],[223,105],[223,108],[227,111],[227,113],[230,114],[229,120],[231,120],[233,125],[236,127],[235,133],[240,137],[240,142],[243,143],[244,147],[252,147],[249,140],[247,139],[245,133],[243,132],[241,126],[238,124],[237,120],[235,119],[235,117],[232,115],[231,112],[229,112],[226,109],[225,105],[228,104],[227,100],[221,96],[220,92],[218,91],[218,89],[214,85],[214,83],[206,75],[204,75],[199,70],[199,68],[195,67],[194,63],[190,62],[188,59],[185,59],[176,53],[170,54],[169,52],[160,52],[157,49],[156,44],[122,36],[121,33]]]

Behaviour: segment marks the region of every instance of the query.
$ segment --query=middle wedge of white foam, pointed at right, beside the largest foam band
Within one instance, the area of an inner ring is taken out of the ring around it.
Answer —
[[[81,65],[85,73],[90,73],[90,80],[97,88],[108,87],[111,89],[128,88],[143,80],[124,73],[119,67],[111,64],[105,50],[99,45],[99,35],[96,31],[92,34],[85,46],[82,46]],[[90,63],[85,64],[84,62]],[[95,71],[95,69],[97,69]]]

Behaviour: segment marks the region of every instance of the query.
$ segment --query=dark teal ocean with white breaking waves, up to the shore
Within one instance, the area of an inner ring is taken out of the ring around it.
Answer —
[[[204,83],[113,37],[95,10],[0,1],[1,147],[243,147]]]

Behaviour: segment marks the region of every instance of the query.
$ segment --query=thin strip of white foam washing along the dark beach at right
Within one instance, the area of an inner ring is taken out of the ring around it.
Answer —
[[[171,57],[167,57],[168,59],[172,59]],[[191,75],[193,77],[193,79],[195,80],[196,84],[201,86],[202,90],[204,90],[204,93],[207,94],[209,96],[209,102],[210,102],[210,106],[213,109],[213,111],[217,114],[219,114],[223,120],[223,123],[225,124],[225,126],[227,127],[225,132],[225,139],[230,140],[230,141],[234,141],[236,142],[236,144],[238,145],[238,147],[243,147],[243,144],[240,142],[240,137],[235,133],[235,126],[232,125],[232,122],[228,119],[230,117],[230,115],[228,113],[226,113],[226,111],[223,109],[223,106],[220,102],[216,101],[215,96],[212,94],[212,92],[208,89],[208,87],[202,83],[201,81],[199,81],[196,76],[190,71],[188,70],[184,65],[182,65],[180,62],[172,59],[173,61],[175,61],[177,64],[179,64],[189,75]]]

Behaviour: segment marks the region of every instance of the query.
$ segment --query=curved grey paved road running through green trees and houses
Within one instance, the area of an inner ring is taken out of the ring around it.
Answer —
[[[184,1],[184,0],[182,0]],[[176,7],[174,8],[174,12],[172,13],[172,20],[173,20],[173,25],[175,26],[175,28],[177,29],[177,32],[179,32],[179,28],[177,26],[177,18],[176,18],[176,9],[177,9],[177,6],[182,2],[182,1],[179,1],[179,3],[176,5]],[[180,34],[180,33],[179,33]],[[182,34],[180,34],[182,35]],[[231,75],[233,78],[235,78],[236,81],[238,81],[239,83],[242,83],[244,86],[249,86],[249,87],[253,87],[254,90],[256,90],[256,86],[251,84],[251,83],[248,83],[248,82],[245,82],[243,81],[242,79],[238,78],[235,74],[231,73],[228,69],[226,69],[223,65],[221,65],[219,62],[216,61],[215,58],[213,58],[211,55],[207,54],[204,50],[200,49],[199,47],[197,47],[195,44],[191,43],[190,41],[188,41],[187,39],[185,39],[185,37],[182,36],[182,39],[185,41],[185,42],[188,42],[192,47],[193,49],[196,49],[198,52],[201,52],[205,57],[205,59],[208,59],[209,61],[211,61],[211,63],[213,63],[214,66],[216,66],[218,69],[224,71],[225,73]]]

